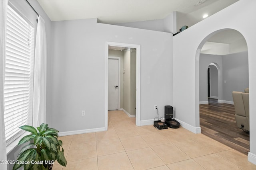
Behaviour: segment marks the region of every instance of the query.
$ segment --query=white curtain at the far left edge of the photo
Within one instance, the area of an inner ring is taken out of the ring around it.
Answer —
[[[7,159],[4,126],[4,68],[7,3],[8,0],[0,0],[0,160]],[[7,164],[0,163],[0,169],[6,170]]]

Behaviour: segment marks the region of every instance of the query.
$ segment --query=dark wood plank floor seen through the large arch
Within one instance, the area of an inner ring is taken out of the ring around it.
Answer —
[[[234,105],[209,99],[209,104],[200,105],[201,133],[247,155],[250,137],[236,126],[234,115]]]

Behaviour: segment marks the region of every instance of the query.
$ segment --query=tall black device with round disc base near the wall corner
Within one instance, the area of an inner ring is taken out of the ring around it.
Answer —
[[[165,123],[168,127],[170,128],[179,128],[180,127],[180,123],[178,121],[176,121],[173,118],[173,108],[172,106],[164,106],[164,119],[165,119]]]

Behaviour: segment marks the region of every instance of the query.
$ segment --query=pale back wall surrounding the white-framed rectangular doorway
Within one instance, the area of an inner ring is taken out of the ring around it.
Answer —
[[[141,45],[140,121],[156,117],[155,104],[172,105],[172,34],[96,23],[96,19],[55,21],[49,115],[62,134],[105,126],[106,41]]]

